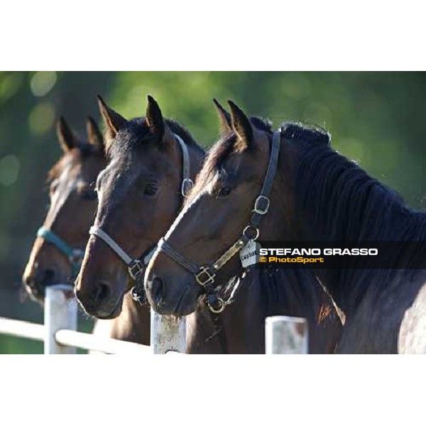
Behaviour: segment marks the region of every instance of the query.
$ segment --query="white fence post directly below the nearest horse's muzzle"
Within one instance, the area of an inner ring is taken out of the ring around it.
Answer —
[[[168,351],[186,353],[186,317],[165,317],[151,309],[151,347],[153,354]]]

